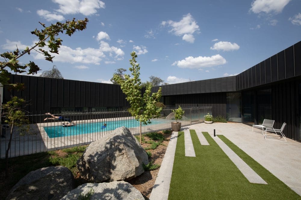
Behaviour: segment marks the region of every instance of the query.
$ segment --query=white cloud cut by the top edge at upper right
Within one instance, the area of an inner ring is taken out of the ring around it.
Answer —
[[[253,13],[281,13],[290,0],[255,0],[251,3],[250,11]]]

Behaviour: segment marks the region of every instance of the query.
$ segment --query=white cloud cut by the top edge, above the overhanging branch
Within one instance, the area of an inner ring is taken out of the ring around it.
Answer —
[[[52,0],[59,4],[57,12],[63,14],[82,13],[92,15],[97,13],[97,9],[105,8],[105,3],[99,0]]]

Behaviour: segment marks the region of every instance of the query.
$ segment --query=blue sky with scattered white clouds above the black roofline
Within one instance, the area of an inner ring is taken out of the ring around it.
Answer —
[[[32,46],[30,31],[67,19],[89,19],[53,63],[32,52],[44,70],[56,65],[65,79],[109,82],[138,53],[141,80],[170,84],[240,73],[301,40],[301,1],[3,1],[0,49]],[[38,74],[39,75],[39,74]]]

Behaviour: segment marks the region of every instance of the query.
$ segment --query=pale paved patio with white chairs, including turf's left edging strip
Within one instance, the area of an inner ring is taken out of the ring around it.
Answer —
[[[197,133],[208,132],[212,137],[215,129],[216,135],[224,135],[301,196],[301,143],[291,139],[287,139],[287,142],[265,140],[260,132],[252,133],[251,126],[241,123],[202,123],[184,127],[181,131],[186,132],[188,129]],[[156,193],[161,195],[161,199],[168,197],[168,193],[163,197],[162,191],[169,190],[168,175],[171,177],[175,143],[172,140],[169,143],[170,147],[166,151],[150,199],[156,199]]]

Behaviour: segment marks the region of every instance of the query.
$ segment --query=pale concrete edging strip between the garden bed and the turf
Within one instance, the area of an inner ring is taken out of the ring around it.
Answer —
[[[151,191],[150,199],[168,199],[177,140],[178,132],[172,133],[153,190]]]

